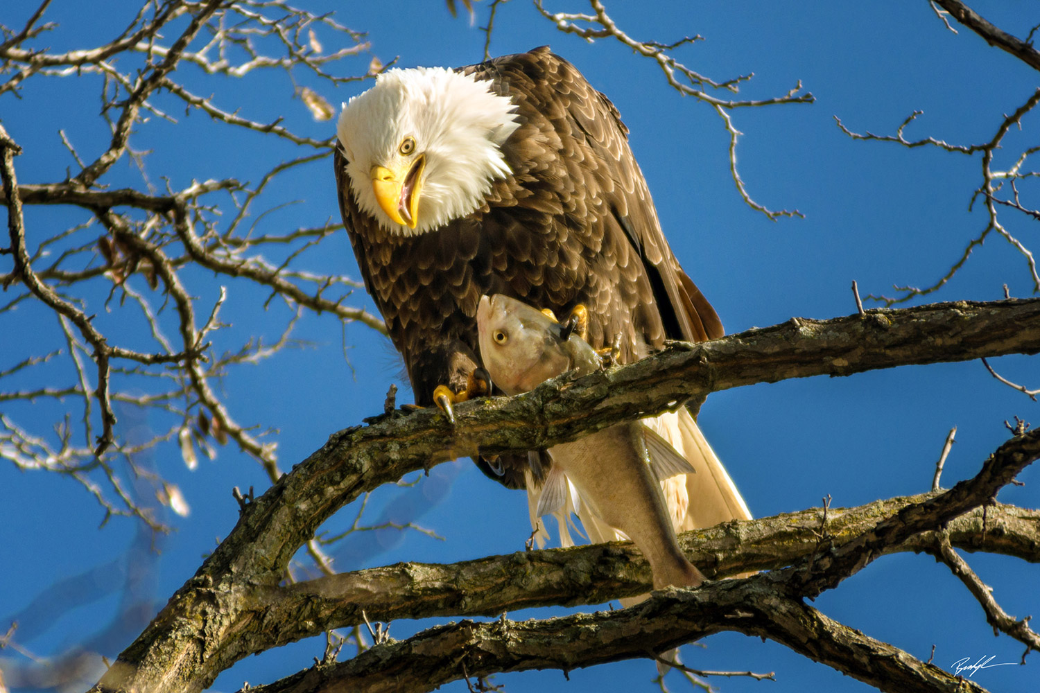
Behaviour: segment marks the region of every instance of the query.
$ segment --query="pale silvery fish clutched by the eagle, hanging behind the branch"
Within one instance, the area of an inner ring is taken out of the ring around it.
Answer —
[[[586,375],[601,367],[599,354],[574,330],[503,294],[482,296],[476,321],[484,367],[494,387],[508,395],[528,392],[567,371]],[[616,424],[550,448],[551,468],[532,514],[573,510],[592,539],[630,538],[650,564],[654,589],[697,587],[705,578],[676,538],[688,503],[677,500],[681,508],[670,508],[661,491],[662,481],[677,480],[672,486],[686,498],[686,477],[697,476],[697,469],[659,428],[654,419]],[[537,485],[531,481],[528,476],[529,495]],[[746,507],[744,512],[750,516]]]

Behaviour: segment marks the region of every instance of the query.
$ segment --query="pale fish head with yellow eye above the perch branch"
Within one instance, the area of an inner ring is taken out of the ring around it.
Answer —
[[[522,301],[482,296],[476,326],[484,368],[506,395],[532,390],[571,368],[560,324]]]

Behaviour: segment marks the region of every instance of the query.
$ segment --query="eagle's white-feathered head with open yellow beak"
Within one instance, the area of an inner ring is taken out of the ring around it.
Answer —
[[[344,104],[336,133],[358,207],[406,235],[479,209],[510,172],[500,144],[518,127],[489,87],[444,68],[395,69]]]

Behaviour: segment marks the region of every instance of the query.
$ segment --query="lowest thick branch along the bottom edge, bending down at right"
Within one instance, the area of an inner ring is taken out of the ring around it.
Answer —
[[[376,645],[353,660],[301,671],[255,693],[411,693],[470,676],[572,669],[649,657],[723,631],[770,638],[882,691],[982,691],[974,684],[778,594],[768,576],[694,591],[667,589],[620,611],[536,621],[464,620]]]

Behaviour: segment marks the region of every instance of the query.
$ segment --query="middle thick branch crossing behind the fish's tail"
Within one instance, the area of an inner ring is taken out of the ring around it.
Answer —
[[[893,498],[858,508],[830,508],[826,531],[843,544],[872,530],[880,519],[936,495]],[[777,570],[805,559],[820,547],[820,508],[731,522],[686,532],[686,556],[709,578],[752,570]],[[983,523],[986,529],[983,531]],[[952,521],[952,545],[1040,562],[1040,511],[996,504],[986,517],[977,509]],[[930,534],[886,547],[885,553],[933,552]],[[465,586],[465,589],[461,589]],[[452,564],[397,563],[342,572],[285,587],[257,590],[249,611],[262,620],[262,642],[251,649],[282,645],[371,620],[434,616],[495,616],[504,611],[550,605],[580,606],[642,594],[651,589],[650,567],[629,542],[489,556]]]

